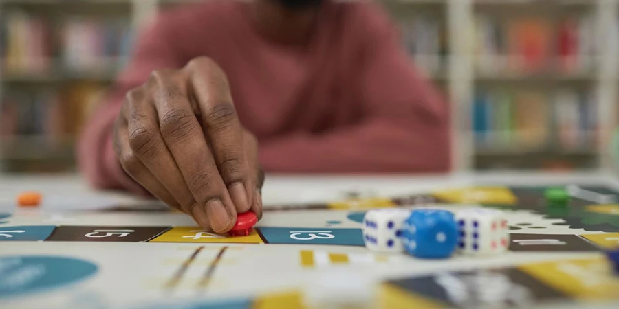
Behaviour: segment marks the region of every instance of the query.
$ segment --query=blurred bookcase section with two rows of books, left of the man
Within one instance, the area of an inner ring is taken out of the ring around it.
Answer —
[[[0,0],[0,172],[74,170],[75,141],[131,48],[130,0]]]

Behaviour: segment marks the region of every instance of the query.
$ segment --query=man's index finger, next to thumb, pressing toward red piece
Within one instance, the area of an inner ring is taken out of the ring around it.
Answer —
[[[208,58],[188,65],[191,88],[221,179],[239,213],[254,201],[255,181],[243,147],[243,128],[232,103],[226,74]]]

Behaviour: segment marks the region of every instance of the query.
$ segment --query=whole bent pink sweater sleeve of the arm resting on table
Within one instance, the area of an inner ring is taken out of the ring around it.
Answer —
[[[398,31],[375,6],[358,14],[364,61],[356,126],[322,135],[293,134],[261,145],[270,172],[446,172],[450,170],[448,107],[415,71]]]

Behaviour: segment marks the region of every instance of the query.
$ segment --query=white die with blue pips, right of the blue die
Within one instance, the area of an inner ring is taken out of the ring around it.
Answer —
[[[457,249],[471,255],[503,253],[510,245],[510,233],[503,211],[474,208],[457,211]]]

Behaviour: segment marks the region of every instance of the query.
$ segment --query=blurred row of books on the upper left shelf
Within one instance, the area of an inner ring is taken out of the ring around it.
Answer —
[[[1,69],[8,74],[114,73],[131,51],[127,19],[71,16],[54,20],[10,9],[0,19]]]

